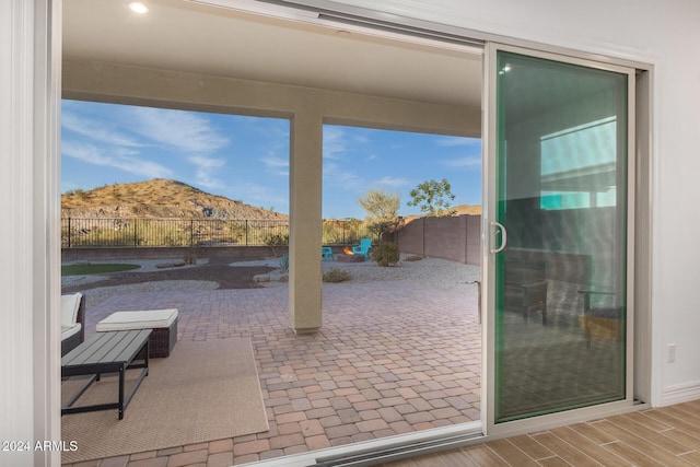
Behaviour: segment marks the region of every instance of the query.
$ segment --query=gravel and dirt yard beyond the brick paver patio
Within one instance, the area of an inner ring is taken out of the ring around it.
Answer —
[[[368,283],[378,281],[413,281],[439,289],[475,293],[474,281],[479,280],[478,266],[463,265],[440,258],[422,258],[407,260],[412,255],[401,255],[401,261],[392,267],[380,267],[373,261],[357,264],[324,261],[324,271],[342,269],[351,275],[350,283]],[[84,261],[83,261],[84,262]],[[86,305],[95,306],[109,296],[122,293],[155,291],[189,291],[214,289],[252,289],[260,287],[288,287],[281,272],[279,258],[265,258],[255,261],[226,260],[209,261],[200,258],[197,265],[171,268],[159,268],[167,262],[163,259],[129,259],[119,261],[139,264],[141,268],[125,272],[91,276],[67,276],[62,278],[63,293],[85,292]],[[268,276],[269,282],[257,282],[256,276]]]

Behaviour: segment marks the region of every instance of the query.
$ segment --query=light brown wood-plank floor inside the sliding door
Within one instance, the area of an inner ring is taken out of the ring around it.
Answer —
[[[384,466],[700,466],[700,400],[491,441]]]

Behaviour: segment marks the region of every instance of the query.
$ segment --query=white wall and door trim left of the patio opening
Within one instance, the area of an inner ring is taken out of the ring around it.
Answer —
[[[59,388],[49,384],[60,373],[48,364],[60,355],[49,304],[60,293],[60,252],[47,242],[58,235],[58,202],[48,196],[58,182],[56,139],[47,137],[58,128],[59,103],[48,95],[60,89],[60,54],[50,60],[47,51],[52,13],[49,0],[0,2],[0,442],[19,442],[0,446],[10,450],[0,451],[2,466],[60,464],[60,453],[34,444],[60,437]]]

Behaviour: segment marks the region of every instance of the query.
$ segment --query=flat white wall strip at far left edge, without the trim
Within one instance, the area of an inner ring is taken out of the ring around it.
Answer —
[[[0,226],[3,299],[0,326],[0,440],[32,440],[34,401],[32,398],[32,141],[23,138],[31,128],[32,68],[18,58],[32,48],[31,28],[21,34],[21,25],[31,24],[31,8],[20,1],[0,2],[0,190],[5,199],[9,222]],[[19,36],[19,37],[18,37]],[[13,66],[8,66],[12,63]],[[30,133],[31,135],[31,133]],[[31,457],[30,459],[31,460]],[[0,453],[0,464],[28,463],[25,455]],[[21,465],[21,464],[16,464]]]

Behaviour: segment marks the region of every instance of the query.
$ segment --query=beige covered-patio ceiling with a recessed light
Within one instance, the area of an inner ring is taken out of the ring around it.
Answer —
[[[129,1],[63,0],[63,57],[481,105],[481,55],[474,46],[360,28],[304,12],[296,21],[275,17],[275,7],[253,0],[207,1],[265,14],[187,0],[143,0],[149,12],[138,14]]]

